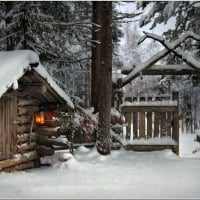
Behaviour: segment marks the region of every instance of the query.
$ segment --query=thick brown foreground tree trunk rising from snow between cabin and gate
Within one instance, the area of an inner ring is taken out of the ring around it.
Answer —
[[[95,93],[95,107],[99,112],[97,131],[97,150],[102,155],[108,155],[111,151],[110,121],[111,121],[111,98],[112,98],[112,2],[94,2],[96,14],[101,26],[100,34],[96,39],[100,44],[93,52],[95,73],[93,75]],[[93,102],[94,103],[94,102]]]

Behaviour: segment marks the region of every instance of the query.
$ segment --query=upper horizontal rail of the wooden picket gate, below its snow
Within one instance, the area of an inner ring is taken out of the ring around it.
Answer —
[[[122,112],[175,112],[177,106],[123,106],[121,107]]]

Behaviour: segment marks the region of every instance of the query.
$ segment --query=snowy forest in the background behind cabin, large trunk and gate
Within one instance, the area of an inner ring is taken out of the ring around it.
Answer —
[[[157,24],[174,17],[175,28],[163,33],[168,41],[174,41],[185,31],[200,35],[199,2],[140,1],[135,2],[137,9],[131,13],[117,10],[118,4],[122,3],[112,4],[113,71],[144,62],[147,52],[151,56],[160,48],[153,41],[144,48],[138,46],[137,42],[143,35],[131,25],[138,21],[141,27],[151,23],[151,28],[156,28]],[[147,7],[148,12],[144,14]],[[56,82],[75,102],[88,107],[91,49],[97,42],[93,41],[92,30],[94,26],[98,30],[98,24],[92,21],[92,12],[91,1],[0,2],[0,50],[31,49],[37,52]],[[126,38],[123,46],[120,43],[122,38]],[[199,41],[187,39],[180,48],[199,61]],[[169,54],[160,62],[180,64],[184,61]],[[167,95],[178,90],[180,118],[189,124],[188,131],[193,132],[200,126],[199,82],[198,75],[140,76],[126,85],[126,91],[144,96]]]

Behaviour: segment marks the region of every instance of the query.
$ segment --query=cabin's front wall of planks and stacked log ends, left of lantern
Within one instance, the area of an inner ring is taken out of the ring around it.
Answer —
[[[23,170],[38,165],[34,124],[38,105],[39,101],[30,97],[5,95],[0,99],[0,170]]]

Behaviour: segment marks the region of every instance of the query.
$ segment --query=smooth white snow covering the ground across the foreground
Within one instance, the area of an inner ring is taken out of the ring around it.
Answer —
[[[194,137],[181,134],[180,157],[170,150],[101,156],[83,146],[74,156],[57,152],[45,158],[51,167],[1,172],[0,198],[200,198],[200,153],[192,153],[200,145]]]

